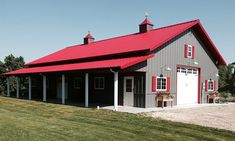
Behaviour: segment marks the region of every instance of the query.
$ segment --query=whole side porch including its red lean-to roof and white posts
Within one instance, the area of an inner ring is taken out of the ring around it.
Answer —
[[[16,76],[17,98],[85,107],[113,105],[114,110],[118,110],[118,105],[145,107],[146,73],[136,68],[142,67],[149,57],[23,68],[5,74],[7,96],[14,95],[8,78]],[[20,90],[21,79],[28,82],[24,94]]]

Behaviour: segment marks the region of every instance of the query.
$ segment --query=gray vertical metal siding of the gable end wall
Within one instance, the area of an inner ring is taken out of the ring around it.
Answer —
[[[195,46],[195,58],[184,58],[184,45],[190,44]],[[155,56],[148,59],[146,68],[146,105],[145,107],[154,107],[155,94],[152,93],[152,76],[162,74],[169,76],[171,79],[170,92],[174,95],[174,103],[176,104],[177,93],[177,65],[193,66],[201,70],[201,85],[206,79],[214,79],[218,84],[218,69],[215,65],[215,60],[212,60],[210,53],[207,51],[203,43],[197,38],[197,35],[192,30],[185,31],[181,35],[164,44],[162,47],[154,50]],[[198,65],[194,64],[198,62]],[[171,71],[165,71],[166,67],[170,67]],[[216,85],[218,86],[218,85]],[[202,102],[206,101],[206,96],[202,98]]]

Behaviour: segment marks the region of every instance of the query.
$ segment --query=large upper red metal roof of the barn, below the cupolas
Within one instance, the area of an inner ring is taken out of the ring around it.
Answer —
[[[199,33],[202,34],[201,36],[205,36],[205,38],[202,40],[204,42],[208,42],[210,51],[213,52],[213,56],[218,59],[219,64],[226,64],[225,60],[220,55],[215,45],[201,26],[200,21],[194,20],[167,27],[157,28],[146,33],[135,33],[126,36],[96,41],[86,45],[81,44],[67,47],[60,51],[37,59],[33,62],[30,62],[26,65],[40,65],[68,60],[102,57],[121,53],[132,53],[137,51],[152,51],[160,47],[167,41],[173,39],[180,33],[195,26],[200,26],[200,28],[194,29],[198,30]]]

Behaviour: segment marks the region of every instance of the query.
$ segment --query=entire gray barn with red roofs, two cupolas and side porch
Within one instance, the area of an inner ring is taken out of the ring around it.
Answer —
[[[27,98],[90,105],[156,107],[159,94],[174,105],[207,102],[216,92],[218,66],[225,60],[199,20],[154,28],[149,19],[137,33],[95,41],[89,33],[83,44],[66,47],[7,72],[28,79]]]

